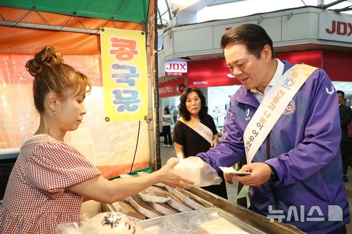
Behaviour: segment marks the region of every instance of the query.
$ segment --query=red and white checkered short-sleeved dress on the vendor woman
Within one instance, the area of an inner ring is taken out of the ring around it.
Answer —
[[[65,188],[99,175],[79,151],[48,135],[27,140],[0,205],[1,234],[52,234],[80,223],[82,196]]]

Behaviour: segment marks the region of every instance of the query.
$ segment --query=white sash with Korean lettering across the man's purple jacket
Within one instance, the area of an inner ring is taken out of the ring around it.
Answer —
[[[292,66],[265,95],[261,105],[244,130],[243,143],[247,163],[252,162],[257,150],[284,112],[286,106],[316,69],[318,68],[307,64]]]

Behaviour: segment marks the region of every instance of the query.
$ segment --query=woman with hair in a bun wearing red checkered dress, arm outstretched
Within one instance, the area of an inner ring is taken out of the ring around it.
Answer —
[[[78,150],[64,143],[86,114],[88,77],[64,64],[62,54],[45,47],[27,62],[34,76],[38,130],[26,140],[10,174],[0,205],[1,234],[53,234],[60,223],[80,223],[83,196],[111,204],[162,182],[189,188],[169,164],[129,179],[107,180]],[[188,183],[188,184],[187,184]]]

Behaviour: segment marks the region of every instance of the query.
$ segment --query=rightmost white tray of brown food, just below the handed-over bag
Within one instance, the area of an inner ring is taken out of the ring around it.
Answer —
[[[195,210],[202,210],[205,208],[211,208],[213,207],[213,204],[197,197],[196,195],[193,195],[185,190],[181,189],[171,189],[170,187],[167,187],[169,192],[174,194],[177,198],[179,198],[181,201],[183,201],[185,204],[189,205]]]

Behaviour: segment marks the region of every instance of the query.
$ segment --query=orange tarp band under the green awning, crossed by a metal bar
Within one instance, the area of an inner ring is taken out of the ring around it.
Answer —
[[[86,17],[72,17],[28,10],[0,7],[0,15],[5,21],[20,21],[25,23],[60,25],[65,27],[86,27],[96,29],[100,27],[111,27],[128,30],[141,30],[141,24],[122,21],[107,21]],[[27,14],[28,13],[28,14]],[[26,15],[27,14],[27,15]],[[66,22],[67,21],[67,22]],[[82,24],[84,25],[82,25]],[[20,28],[0,26],[0,53],[26,53],[34,54],[43,49],[45,45],[51,45],[63,54],[82,55],[99,54],[100,39],[99,34],[87,34],[64,31],[50,31],[42,29]]]

